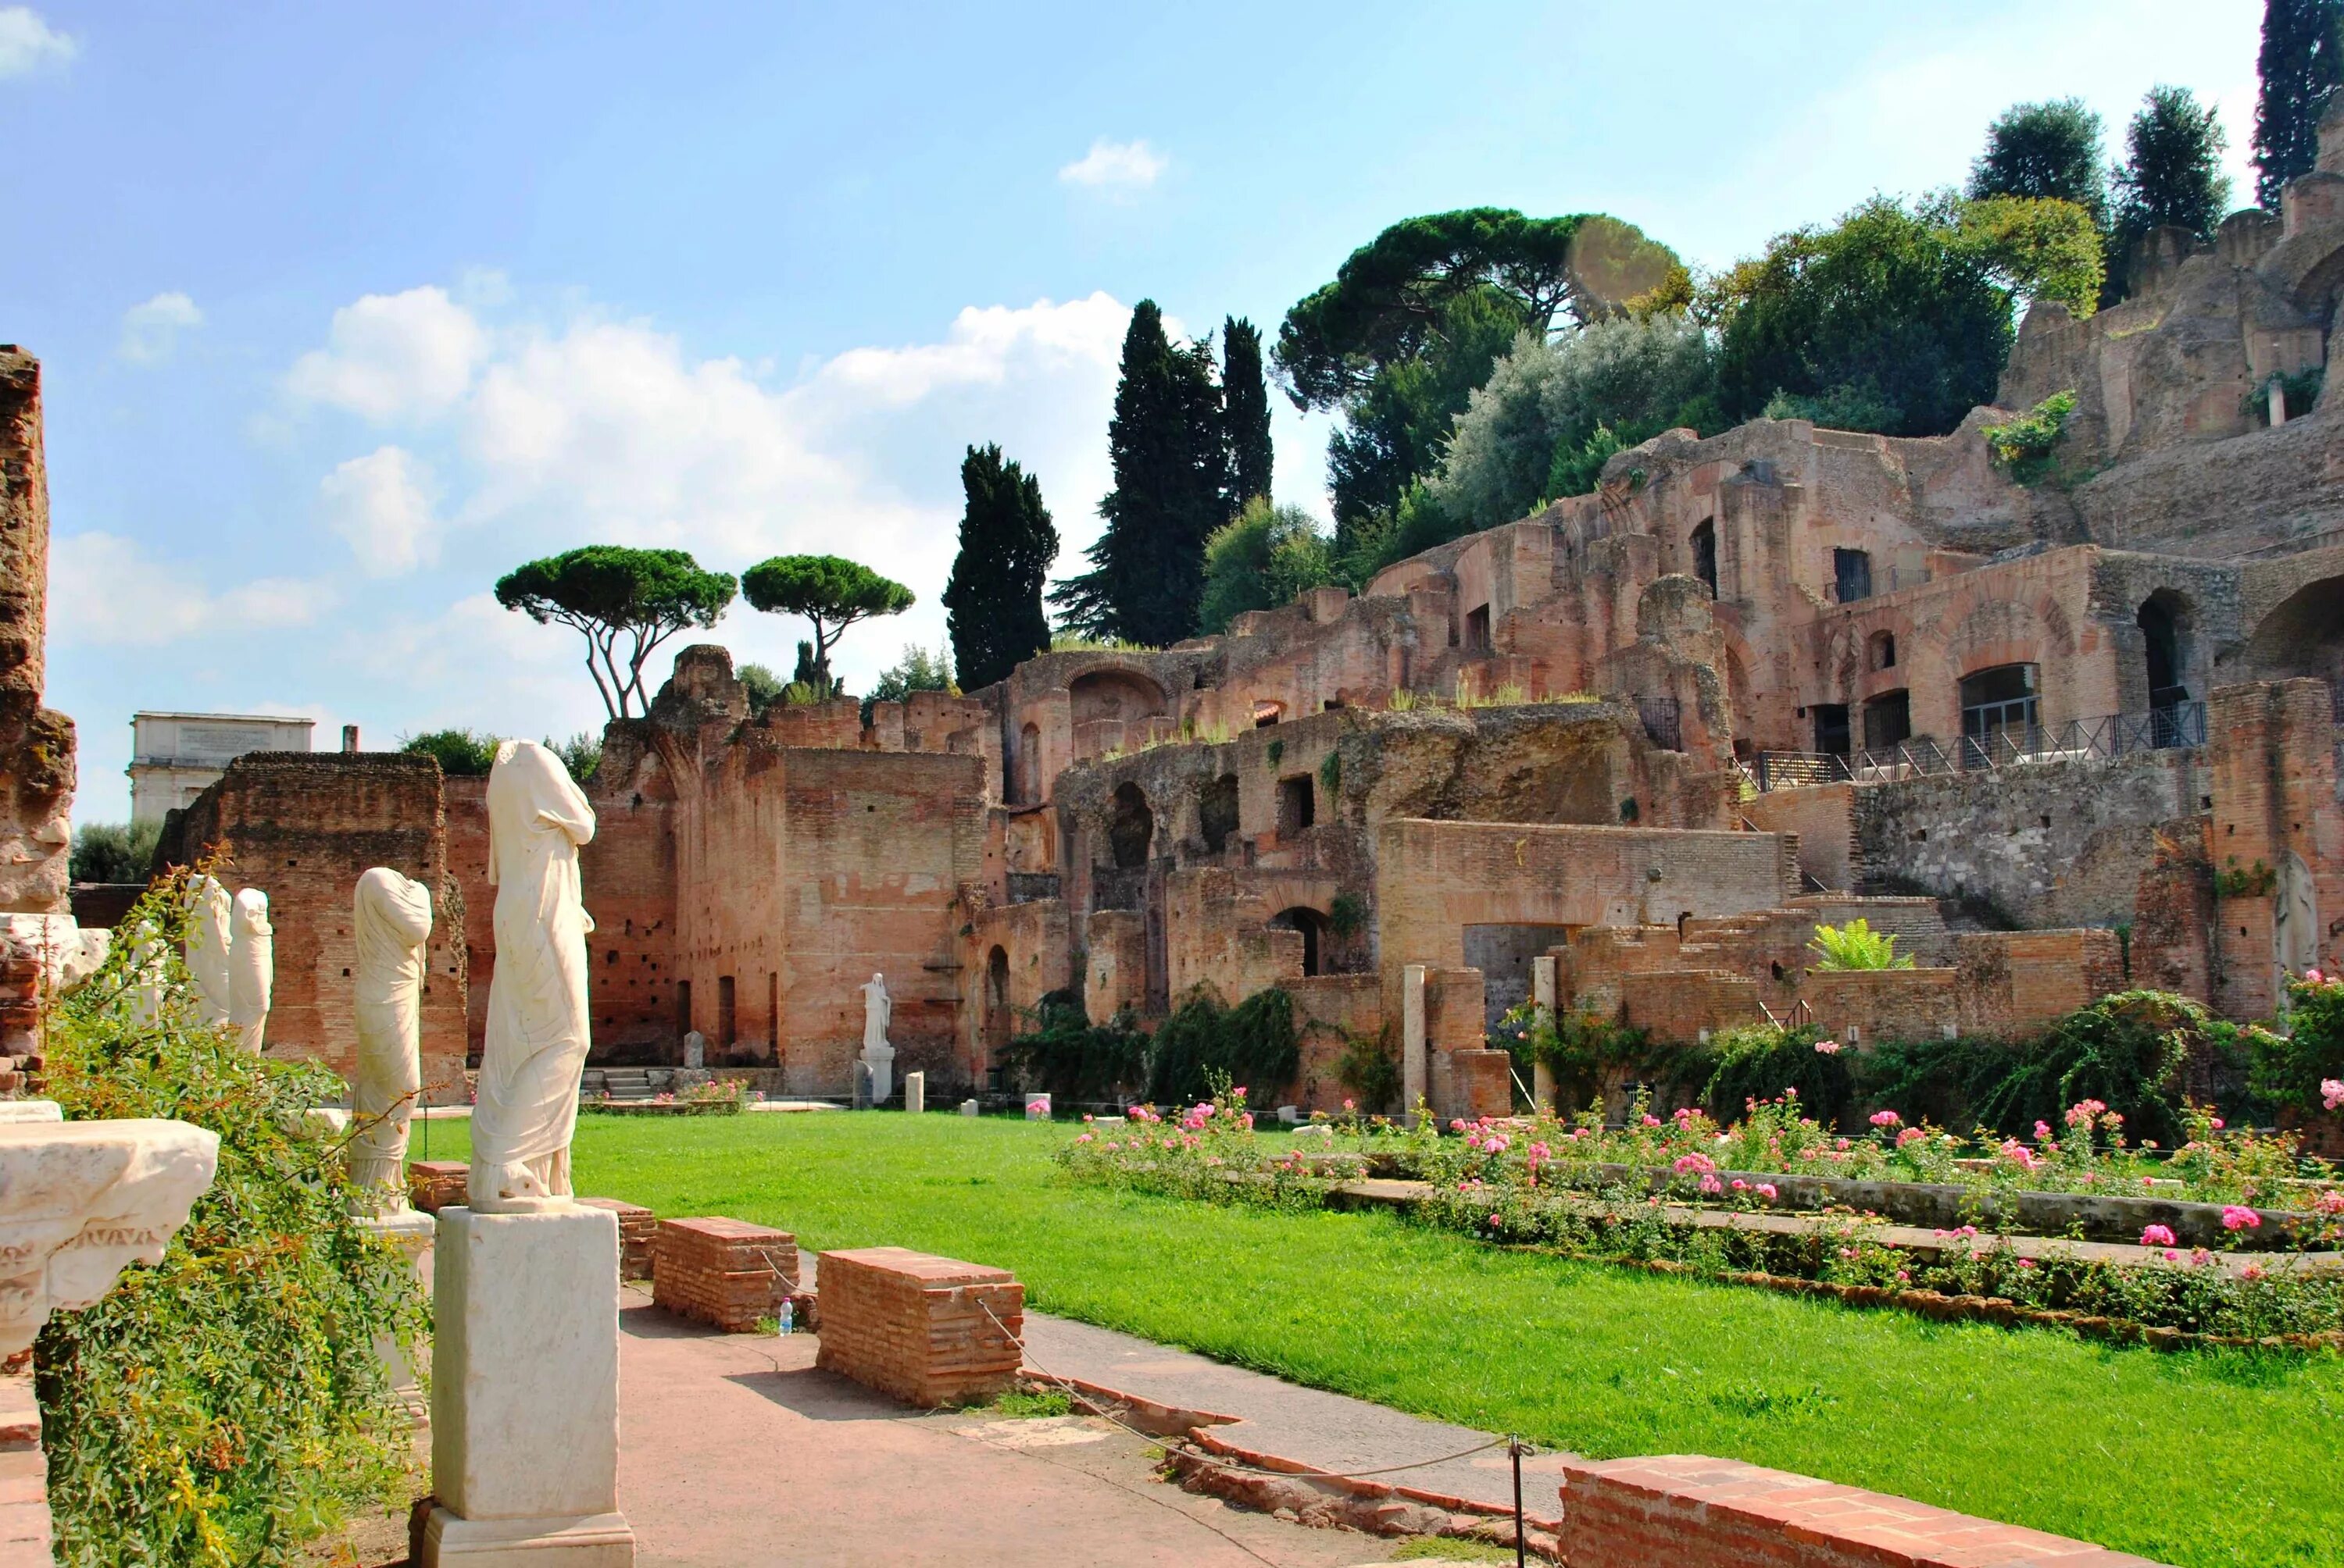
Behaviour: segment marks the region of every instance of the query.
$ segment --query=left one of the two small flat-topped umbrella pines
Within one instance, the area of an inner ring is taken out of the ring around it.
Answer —
[[[539,626],[560,621],[586,638],[586,673],[609,717],[649,708],[642,661],[675,633],[710,628],[731,605],[731,572],[703,572],[687,551],[588,544],[513,567],[497,602]]]

